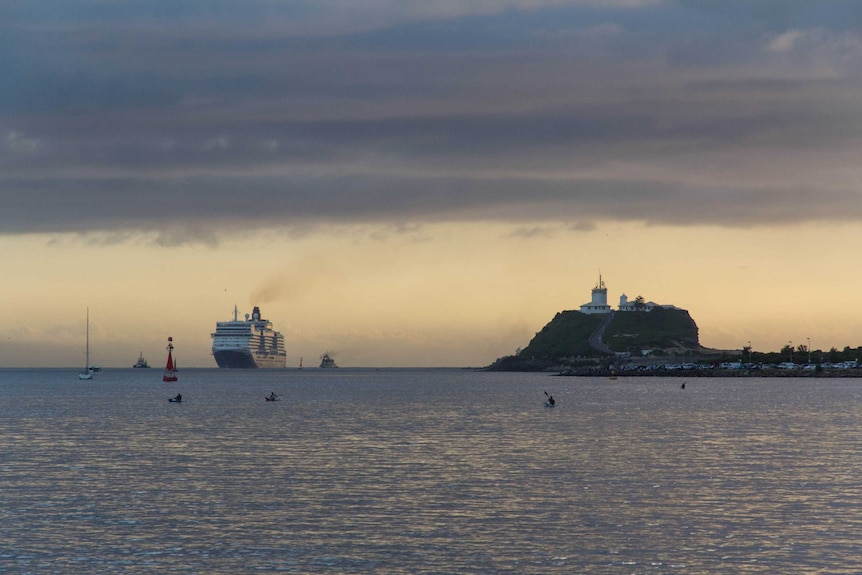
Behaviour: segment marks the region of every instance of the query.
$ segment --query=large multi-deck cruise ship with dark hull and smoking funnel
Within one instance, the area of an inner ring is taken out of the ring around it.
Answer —
[[[254,307],[251,317],[238,317],[233,308],[232,321],[216,322],[212,334],[213,357],[222,368],[273,369],[283,368],[287,362],[284,336],[273,331],[272,322],[261,319],[260,308]]]

